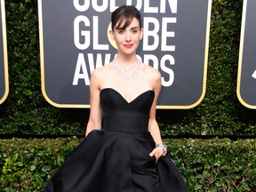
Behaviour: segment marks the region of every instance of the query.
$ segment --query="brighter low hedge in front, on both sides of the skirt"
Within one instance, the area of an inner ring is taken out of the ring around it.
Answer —
[[[83,139],[0,140],[0,188],[42,191]],[[164,140],[189,191],[256,191],[256,140]]]

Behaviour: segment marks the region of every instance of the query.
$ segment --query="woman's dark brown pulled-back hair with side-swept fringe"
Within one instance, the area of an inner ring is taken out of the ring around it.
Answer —
[[[123,5],[118,7],[111,15],[111,28],[115,29],[116,24],[118,26],[116,28],[127,28],[131,23],[133,18],[139,20],[140,28],[141,28],[141,16],[138,9],[133,5]],[[124,25],[121,27],[120,25]]]

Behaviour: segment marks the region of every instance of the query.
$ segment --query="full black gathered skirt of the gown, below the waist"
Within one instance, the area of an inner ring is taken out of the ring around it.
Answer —
[[[45,192],[188,191],[169,156],[156,164],[149,156],[155,142],[149,132],[94,130],[48,181]]]

